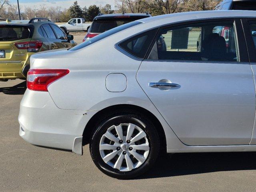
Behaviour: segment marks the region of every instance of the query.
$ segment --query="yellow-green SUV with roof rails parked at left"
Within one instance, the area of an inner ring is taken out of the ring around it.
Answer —
[[[47,19],[0,22],[0,80],[26,78],[36,52],[76,45],[72,35]]]

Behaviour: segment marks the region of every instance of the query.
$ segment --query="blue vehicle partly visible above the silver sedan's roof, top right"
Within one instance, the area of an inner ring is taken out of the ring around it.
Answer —
[[[224,0],[215,10],[256,10],[255,0]]]

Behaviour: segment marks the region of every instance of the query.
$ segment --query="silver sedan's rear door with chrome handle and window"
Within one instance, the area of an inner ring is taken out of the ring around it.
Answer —
[[[256,98],[242,31],[231,18],[161,27],[142,61],[138,83],[184,144],[250,143]]]

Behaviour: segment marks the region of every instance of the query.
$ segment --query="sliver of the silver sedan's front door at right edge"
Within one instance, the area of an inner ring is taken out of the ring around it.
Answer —
[[[243,18],[242,24],[244,28],[244,34],[246,37],[246,44],[248,48],[248,54],[250,58],[250,64],[254,74],[254,82],[256,82],[256,19],[255,18]],[[256,145],[256,122],[254,121],[254,128],[252,132],[251,145]]]

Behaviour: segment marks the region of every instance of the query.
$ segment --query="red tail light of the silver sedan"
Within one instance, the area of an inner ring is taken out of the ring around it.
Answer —
[[[27,87],[33,91],[48,91],[48,86],[69,73],[68,69],[30,69]]]

